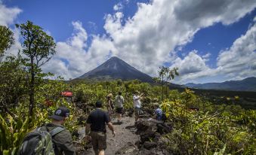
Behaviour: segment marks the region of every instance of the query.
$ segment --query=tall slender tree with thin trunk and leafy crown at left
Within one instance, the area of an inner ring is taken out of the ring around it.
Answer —
[[[29,116],[32,117],[35,107],[35,78],[41,73],[40,67],[51,59],[56,51],[54,39],[47,35],[40,26],[27,21],[16,25],[23,38],[22,53],[26,57],[26,67],[30,74],[29,82]]]

